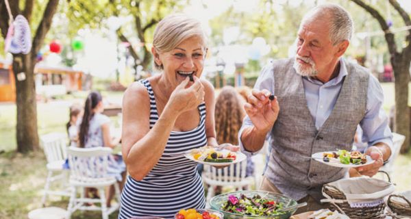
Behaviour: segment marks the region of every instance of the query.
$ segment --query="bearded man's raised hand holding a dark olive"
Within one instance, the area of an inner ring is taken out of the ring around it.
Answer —
[[[277,96],[270,101],[268,90],[253,90],[244,105],[245,112],[258,131],[267,133],[277,120],[279,105]]]

